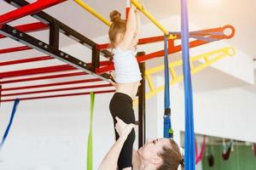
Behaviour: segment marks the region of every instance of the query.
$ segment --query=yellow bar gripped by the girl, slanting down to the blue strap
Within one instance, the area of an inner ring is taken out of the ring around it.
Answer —
[[[176,35],[172,35],[169,33],[169,31],[166,30],[166,28],[164,28],[164,26],[161,26],[160,23],[154,19],[154,17],[148,13],[148,11],[143,8],[143,5],[141,3],[138,3],[137,0],[131,0],[131,3],[133,3],[140,11],[142,11],[143,14],[145,14],[149,20],[151,20],[155,26],[157,26],[160,31],[163,31],[165,33],[166,36],[169,36],[168,38],[171,39],[175,39]]]

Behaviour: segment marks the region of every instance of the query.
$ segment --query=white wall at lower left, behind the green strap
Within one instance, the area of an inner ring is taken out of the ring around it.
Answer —
[[[108,112],[111,95],[96,95],[95,165],[113,144],[113,121]],[[1,106],[1,136],[11,108],[10,103]],[[89,111],[90,96],[20,101],[1,151],[0,169],[86,169]]]

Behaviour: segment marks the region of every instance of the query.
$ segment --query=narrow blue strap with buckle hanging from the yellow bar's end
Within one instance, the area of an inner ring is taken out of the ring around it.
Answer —
[[[168,61],[168,41],[165,36],[165,116],[164,116],[164,138],[172,139],[173,130],[171,122],[170,107],[170,79],[169,79],[169,61]]]

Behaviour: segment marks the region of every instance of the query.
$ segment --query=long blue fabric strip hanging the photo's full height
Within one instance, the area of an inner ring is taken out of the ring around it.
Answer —
[[[189,20],[187,1],[181,0],[182,11],[182,55],[183,55],[183,82],[185,99],[185,169],[195,170],[195,134],[194,134],[194,116],[193,116],[193,94],[191,73],[189,65]]]

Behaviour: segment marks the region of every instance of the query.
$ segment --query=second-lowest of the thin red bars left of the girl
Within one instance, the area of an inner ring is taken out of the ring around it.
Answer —
[[[57,89],[38,90],[38,91],[22,92],[22,93],[15,93],[15,94],[2,94],[0,97],[26,95],[26,94],[44,94],[44,93],[61,92],[61,91],[67,92],[70,90],[79,90],[79,89],[88,89],[88,88],[107,88],[107,87],[112,87],[112,84],[99,84],[99,85],[81,86],[81,87],[75,87],[75,88],[57,88]]]

